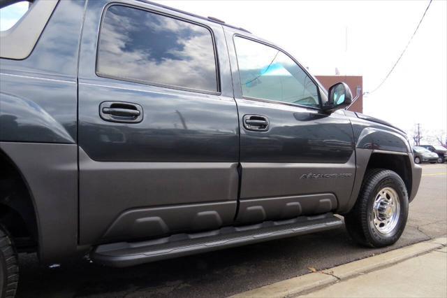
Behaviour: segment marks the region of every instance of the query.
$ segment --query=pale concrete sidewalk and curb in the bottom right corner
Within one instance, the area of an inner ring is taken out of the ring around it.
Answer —
[[[446,245],[416,243],[234,297],[447,297]]]

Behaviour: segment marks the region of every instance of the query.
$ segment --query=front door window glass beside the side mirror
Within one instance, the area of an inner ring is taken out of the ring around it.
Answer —
[[[235,47],[242,95],[319,107],[318,87],[284,52],[237,36]]]

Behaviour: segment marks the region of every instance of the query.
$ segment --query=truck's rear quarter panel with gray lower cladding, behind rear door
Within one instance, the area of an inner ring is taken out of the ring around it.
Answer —
[[[0,59],[0,150],[29,187],[39,257],[77,250],[77,71],[85,1],[57,3],[26,59]]]

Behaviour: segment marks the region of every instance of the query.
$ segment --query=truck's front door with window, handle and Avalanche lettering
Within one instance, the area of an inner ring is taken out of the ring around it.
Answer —
[[[226,29],[240,119],[239,222],[334,211],[351,194],[351,123],[285,52]]]

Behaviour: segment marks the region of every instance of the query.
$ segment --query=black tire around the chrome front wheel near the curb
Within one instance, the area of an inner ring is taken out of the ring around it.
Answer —
[[[388,187],[395,191],[400,204],[400,212],[395,227],[382,234],[374,227],[374,201],[379,191]],[[404,232],[408,218],[408,193],[402,178],[394,171],[372,169],[367,171],[353,209],[345,215],[344,222],[351,238],[362,246],[379,248],[395,243]]]

